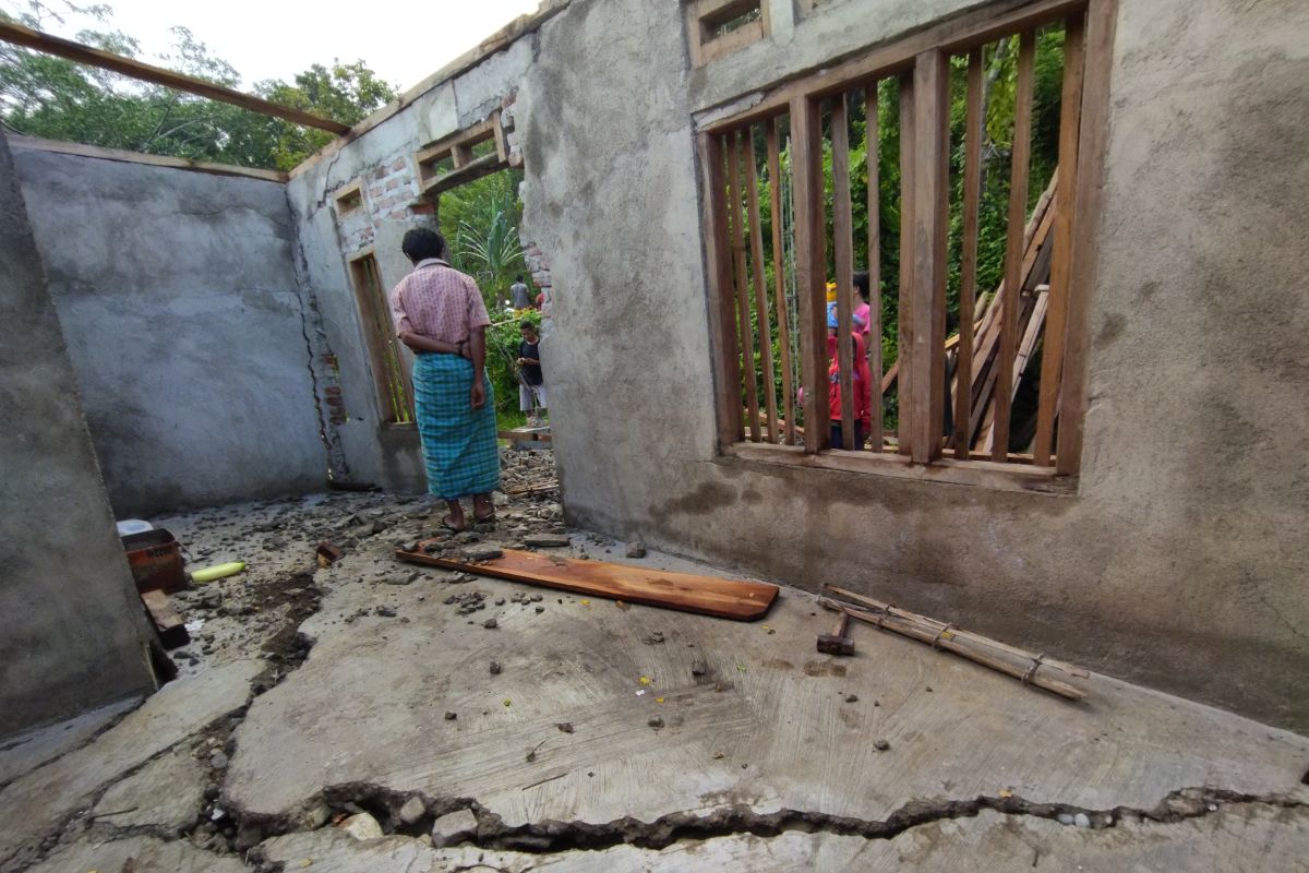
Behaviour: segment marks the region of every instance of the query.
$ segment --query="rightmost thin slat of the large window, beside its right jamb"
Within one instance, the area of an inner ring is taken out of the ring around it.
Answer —
[[[1037,438],[1033,463],[1050,466],[1054,442],[1055,404],[1063,376],[1064,329],[1068,323],[1068,277],[1072,270],[1072,220],[1076,208],[1077,132],[1081,124],[1083,16],[1069,18],[1064,31],[1064,79],[1059,118],[1059,169],[1063,185],[1055,188],[1055,246],[1050,266],[1050,296],[1046,338],[1041,347],[1041,403],[1037,408]]]

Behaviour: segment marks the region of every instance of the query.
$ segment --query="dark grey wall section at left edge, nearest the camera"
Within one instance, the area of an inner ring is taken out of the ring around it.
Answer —
[[[77,382],[0,134],[0,737],[154,688]]]

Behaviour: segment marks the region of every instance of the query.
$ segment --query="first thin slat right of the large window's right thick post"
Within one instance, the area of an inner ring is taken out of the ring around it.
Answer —
[[[966,461],[973,446],[973,323],[978,296],[978,204],[982,199],[982,48],[969,52],[963,123],[963,251],[959,257],[959,349],[954,370],[954,457]]]

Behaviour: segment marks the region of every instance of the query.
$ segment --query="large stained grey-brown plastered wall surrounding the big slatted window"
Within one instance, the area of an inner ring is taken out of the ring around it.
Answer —
[[[1309,7],[1122,1],[1060,497],[716,457],[691,114],[980,4],[795,21],[783,0],[774,39],[695,72],[672,5],[576,0],[516,109],[526,233],[565,289],[546,355],[569,518],[1309,729]]]

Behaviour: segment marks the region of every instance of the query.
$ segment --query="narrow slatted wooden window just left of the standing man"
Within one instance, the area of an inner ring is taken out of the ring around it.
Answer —
[[[368,347],[382,420],[393,427],[414,427],[414,382],[391,323],[390,301],[372,249],[351,257],[350,279],[363,317],[364,344]]]

